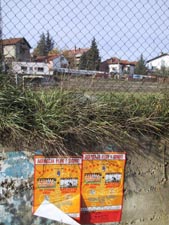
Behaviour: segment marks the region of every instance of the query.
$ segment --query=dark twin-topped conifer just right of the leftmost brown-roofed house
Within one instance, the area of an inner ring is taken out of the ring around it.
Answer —
[[[37,44],[37,47],[34,49],[33,54],[35,56],[46,56],[54,48],[54,41],[50,36],[49,32],[45,35],[42,33],[40,35],[40,40]]]

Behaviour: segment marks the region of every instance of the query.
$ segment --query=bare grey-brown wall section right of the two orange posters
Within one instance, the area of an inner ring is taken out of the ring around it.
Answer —
[[[120,225],[169,224],[169,146],[140,140],[128,152]]]

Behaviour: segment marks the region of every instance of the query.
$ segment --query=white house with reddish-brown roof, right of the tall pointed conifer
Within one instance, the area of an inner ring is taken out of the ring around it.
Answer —
[[[116,57],[107,60],[109,73],[120,76],[124,74],[134,74],[136,63],[137,62],[130,62],[128,60],[122,60]]]

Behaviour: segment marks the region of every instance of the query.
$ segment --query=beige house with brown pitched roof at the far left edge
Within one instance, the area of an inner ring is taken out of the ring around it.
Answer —
[[[5,63],[11,64],[13,61],[30,61],[31,46],[25,38],[4,39],[0,40],[0,44],[3,47]]]

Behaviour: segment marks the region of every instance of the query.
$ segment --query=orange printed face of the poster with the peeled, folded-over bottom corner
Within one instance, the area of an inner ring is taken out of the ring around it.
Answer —
[[[35,156],[33,212],[48,200],[79,220],[81,163],[80,157]]]

